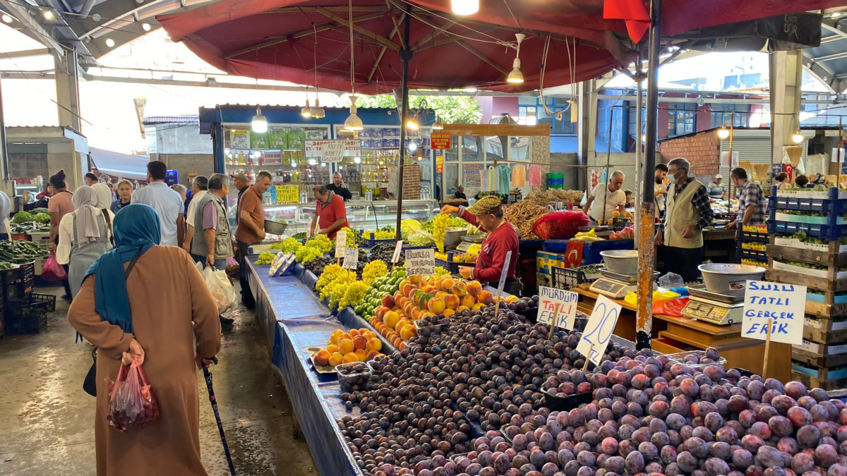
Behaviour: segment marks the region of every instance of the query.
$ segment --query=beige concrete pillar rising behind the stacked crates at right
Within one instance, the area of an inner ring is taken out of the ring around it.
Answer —
[[[771,163],[782,163],[783,147],[795,145],[791,135],[800,127],[803,51],[773,52],[768,60],[771,75]]]

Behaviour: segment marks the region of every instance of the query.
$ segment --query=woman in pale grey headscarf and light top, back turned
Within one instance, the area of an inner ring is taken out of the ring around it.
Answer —
[[[58,225],[56,248],[56,261],[68,265],[71,297],[80,292],[82,279],[86,277],[91,263],[112,249],[114,219],[108,203],[107,208],[100,208],[94,187],[81,186],[74,192],[73,199],[75,210],[65,215]]]

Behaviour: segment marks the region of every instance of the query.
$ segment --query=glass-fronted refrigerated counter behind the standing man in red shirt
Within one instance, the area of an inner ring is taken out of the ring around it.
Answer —
[[[396,224],[397,202],[395,200],[352,200],[346,202],[347,223],[353,230],[378,230],[387,225]],[[315,203],[292,203],[265,205],[265,218],[274,221],[285,220],[288,228],[286,235],[295,235],[308,230],[312,224]],[[402,219],[426,221],[439,213],[438,202],[435,200],[404,200]],[[230,224],[235,219],[235,213],[230,210]],[[233,230],[235,227],[233,226]]]

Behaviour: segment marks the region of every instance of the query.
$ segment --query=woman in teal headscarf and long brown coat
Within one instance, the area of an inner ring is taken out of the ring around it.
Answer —
[[[220,350],[218,307],[188,253],[158,246],[159,223],[147,205],[123,208],[114,221],[117,246],[88,270],[68,312],[70,324],[100,349],[98,476],[206,474],[195,365],[208,366]],[[161,410],[155,422],[125,433],[109,428],[104,382],[117,377],[122,358],[142,365]]]

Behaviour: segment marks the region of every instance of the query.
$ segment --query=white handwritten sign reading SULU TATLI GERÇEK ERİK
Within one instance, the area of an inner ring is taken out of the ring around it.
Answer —
[[[803,343],[805,286],[747,281],[741,336],[799,346]],[[771,320],[771,329],[767,321]]]

